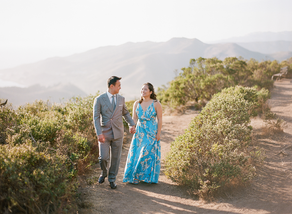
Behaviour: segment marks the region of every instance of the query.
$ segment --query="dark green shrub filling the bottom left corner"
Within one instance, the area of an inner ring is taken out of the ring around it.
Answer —
[[[37,152],[29,144],[0,146],[0,212],[63,213],[74,185],[64,156]]]

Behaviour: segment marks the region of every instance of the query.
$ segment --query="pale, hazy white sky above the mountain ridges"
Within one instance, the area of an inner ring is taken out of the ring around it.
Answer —
[[[126,42],[292,31],[291,0],[0,0],[0,69]]]

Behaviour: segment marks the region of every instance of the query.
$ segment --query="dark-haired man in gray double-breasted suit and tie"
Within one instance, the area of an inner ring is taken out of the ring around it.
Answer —
[[[95,97],[93,102],[93,122],[98,136],[98,159],[102,170],[98,183],[105,182],[105,178],[108,176],[109,185],[112,189],[117,188],[115,181],[124,139],[122,117],[129,124],[130,132],[135,133],[135,122],[126,108],[125,98],[118,94],[121,89],[120,80],[121,77],[110,77],[107,80],[107,91]],[[109,149],[111,157],[109,156]]]

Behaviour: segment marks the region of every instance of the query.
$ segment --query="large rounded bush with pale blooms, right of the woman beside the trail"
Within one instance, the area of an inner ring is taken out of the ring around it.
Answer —
[[[256,96],[252,88],[216,94],[171,144],[166,175],[204,199],[249,180],[253,168],[246,155],[252,132],[248,123],[255,114]]]

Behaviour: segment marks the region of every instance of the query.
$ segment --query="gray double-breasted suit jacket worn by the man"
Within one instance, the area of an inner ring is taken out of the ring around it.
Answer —
[[[106,92],[95,97],[93,102],[93,123],[96,135],[103,134],[106,138],[114,139],[124,137],[122,117],[129,126],[135,125],[126,108],[125,98],[119,94],[116,94],[116,98],[117,104],[113,109]]]

